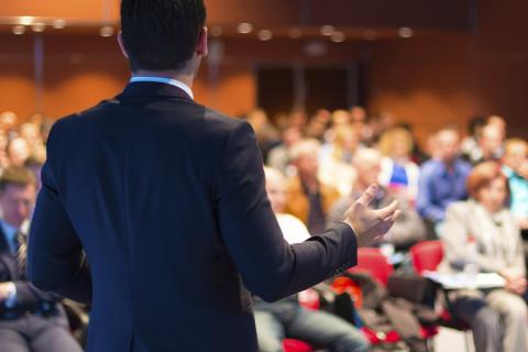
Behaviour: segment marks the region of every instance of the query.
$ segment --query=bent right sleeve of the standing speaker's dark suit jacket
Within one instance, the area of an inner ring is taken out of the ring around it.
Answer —
[[[355,234],[345,223],[289,245],[265,193],[262,156],[246,122],[226,142],[217,185],[222,239],[244,285],[273,301],[337,275],[356,264]]]

